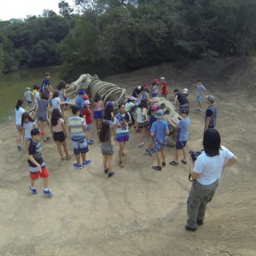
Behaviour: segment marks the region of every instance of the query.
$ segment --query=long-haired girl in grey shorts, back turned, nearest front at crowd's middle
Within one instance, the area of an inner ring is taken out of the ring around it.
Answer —
[[[112,177],[114,174],[112,164],[114,142],[108,120],[104,120],[102,122],[102,130],[99,134],[99,141],[102,143],[104,173],[108,173],[108,177]]]

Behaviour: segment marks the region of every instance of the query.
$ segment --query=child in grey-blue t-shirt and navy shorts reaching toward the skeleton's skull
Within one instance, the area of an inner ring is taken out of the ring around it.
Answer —
[[[176,142],[176,149],[175,149],[175,160],[169,162],[172,166],[178,165],[178,158],[179,153],[183,150],[183,160],[182,163],[187,165],[187,149],[186,144],[189,140],[189,127],[190,127],[190,119],[188,118],[189,110],[183,109],[180,113],[181,117],[183,118],[177,123],[175,123],[172,119],[170,119],[170,123],[173,127],[177,127],[177,142]]]

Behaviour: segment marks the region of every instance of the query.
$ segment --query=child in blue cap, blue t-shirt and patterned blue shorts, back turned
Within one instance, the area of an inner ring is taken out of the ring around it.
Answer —
[[[166,120],[163,120],[164,112],[163,110],[158,110],[155,113],[155,118],[157,119],[151,126],[150,135],[154,137],[153,149],[156,153],[157,166],[152,166],[155,171],[161,171],[162,166],[166,166],[166,143],[167,135],[169,134],[169,127]]]

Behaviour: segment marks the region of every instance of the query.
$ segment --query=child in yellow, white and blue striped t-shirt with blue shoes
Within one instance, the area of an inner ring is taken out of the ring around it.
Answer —
[[[79,117],[79,108],[72,107],[73,117],[67,121],[68,131],[71,131],[73,153],[75,154],[77,162],[73,166],[77,169],[82,169],[84,166],[90,165],[90,160],[86,159],[86,153],[89,151],[88,145],[84,136],[86,125],[83,118]],[[82,156],[82,164],[80,155]]]

